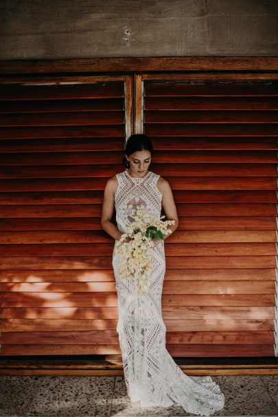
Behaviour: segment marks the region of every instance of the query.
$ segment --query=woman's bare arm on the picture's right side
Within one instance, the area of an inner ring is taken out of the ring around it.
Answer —
[[[157,188],[162,194],[162,206],[163,210],[165,212],[165,215],[168,220],[174,220],[174,224],[170,224],[167,228],[172,230],[172,233],[176,228],[178,227],[178,213],[176,212],[176,204],[174,202],[174,197],[172,193],[172,189],[170,187],[169,182],[165,180],[164,178],[160,177],[157,181]],[[164,219],[165,220],[165,219]],[[167,237],[171,236],[172,233],[169,233],[168,235],[165,235],[164,240],[167,239]]]

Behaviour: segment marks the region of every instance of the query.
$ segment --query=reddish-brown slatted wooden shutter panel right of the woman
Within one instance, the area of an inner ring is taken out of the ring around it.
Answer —
[[[274,356],[278,83],[173,78],[143,84],[151,169],[180,219],[165,243],[167,348]]]

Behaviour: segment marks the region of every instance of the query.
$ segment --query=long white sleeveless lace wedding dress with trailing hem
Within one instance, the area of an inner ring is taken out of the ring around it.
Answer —
[[[148,171],[133,178],[127,171],[116,174],[117,228],[122,233],[133,221],[132,209],[143,205],[152,217],[161,217],[162,195],[158,174]],[[117,254],[113,250],[113,270],[118,296],[117,333],[124,366],[124,378],[131,402],[141,407],[181,405],[186,412],[209,416],[224,406],[224,394],[211,377],[189,377],[165,348],[166,328],[161,313],[161,293],[165,274],[164,241],[154,246],[152,283],[148,294],[137,295],[132,276],[119,278]]]

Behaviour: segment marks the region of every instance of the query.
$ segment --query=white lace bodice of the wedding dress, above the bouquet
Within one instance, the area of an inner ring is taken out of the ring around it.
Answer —
[[[133,178],[128,171],[123,171],[116,177],[119,183],[115,192],[116,222],[121,232],[126,232],[138,206],[143,205],[152,217],[160,218],[162,194],[157,188],[158,174],[148,171],[143,178]]]

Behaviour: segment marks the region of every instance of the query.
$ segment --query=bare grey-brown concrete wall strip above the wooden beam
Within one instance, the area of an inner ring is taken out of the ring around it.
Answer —
[[[278,56],[278,0],[0,0],[0,59]]]

